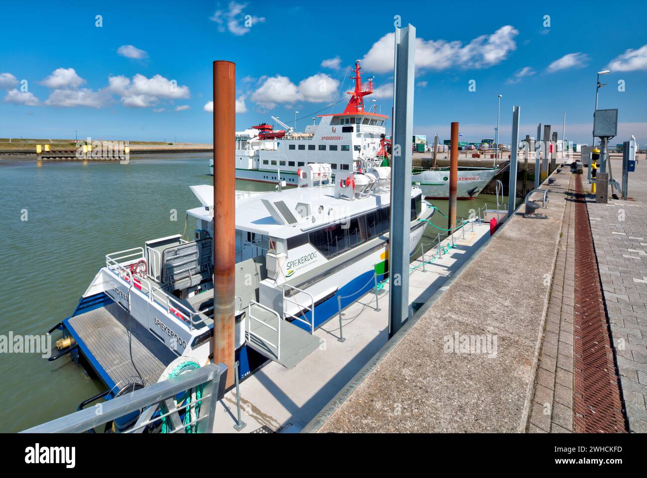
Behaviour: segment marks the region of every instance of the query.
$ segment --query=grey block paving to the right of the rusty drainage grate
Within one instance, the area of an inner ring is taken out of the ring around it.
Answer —
[[[622,170],[613,162],[613,170]],[[619,178],[616,178],[619,179]],[[635,201],[588,203],[630,431],[647,433],[647,164],[629,176]]]

